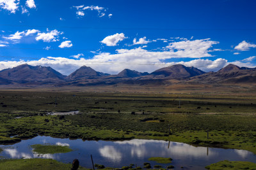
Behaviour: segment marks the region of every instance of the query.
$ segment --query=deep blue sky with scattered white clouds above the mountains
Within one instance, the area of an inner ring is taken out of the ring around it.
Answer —
[[[256,1],[0,0],[0,69],[256,67]]]

